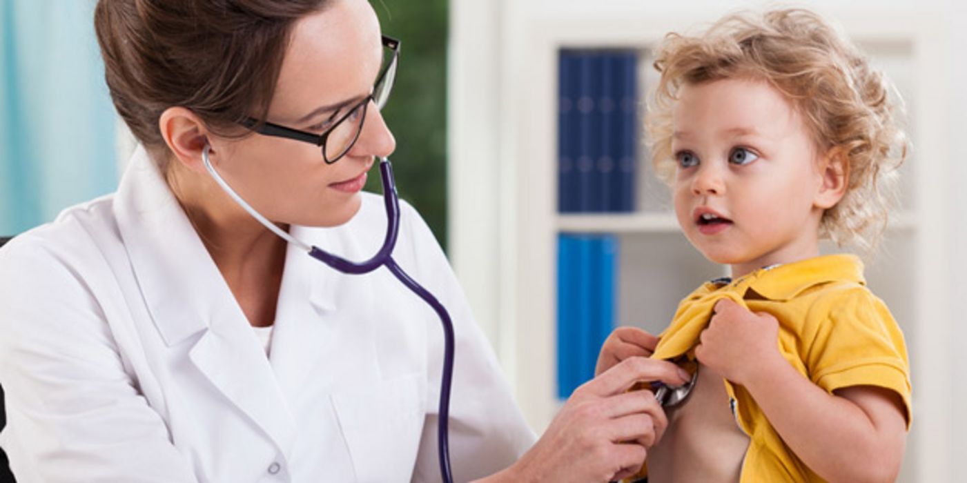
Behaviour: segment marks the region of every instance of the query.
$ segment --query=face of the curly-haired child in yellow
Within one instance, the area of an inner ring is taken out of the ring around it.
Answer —
[[[672,113],[675,213],[706,258],[741,276],[819,253],[819,157],[799,113],[765,82],[687,85]]]

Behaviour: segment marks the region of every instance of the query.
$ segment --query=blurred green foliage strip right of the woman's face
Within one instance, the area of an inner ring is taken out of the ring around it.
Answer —
[[[371,0],[383,33],[399,39],[399,71],[383,116],[396,136],[399,196],[437,240],[447,236],[447,0]],[[377,170],[366,189],[380,192]]]

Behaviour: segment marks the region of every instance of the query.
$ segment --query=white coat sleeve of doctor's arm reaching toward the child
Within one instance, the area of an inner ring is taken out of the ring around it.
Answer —
[[[511,388],[443,250],[420,215],[402,208],[397,253],[412,258],[400,265],[447,308],[454,323],[455,364],[450,403],[450,458],[454,480],[470,481],[510,467],[534,443],[535,435],[513,401]],[[409,242],[411,240],[412,242]],[[409,257],[407,257],[409,258]],[[427,321],[429,341],[426,420],[413,481],[439,481],[438,401],[443,370],[443,328],[436,316]]]

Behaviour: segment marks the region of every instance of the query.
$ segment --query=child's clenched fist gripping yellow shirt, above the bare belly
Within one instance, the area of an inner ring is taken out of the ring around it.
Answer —
[[[779,324],[764,312],[752,313],[723,298],[716,302],[709,327],[699,335],[695,357],[735,384],[747,384],[757,368],[782,359],[778,351]]]

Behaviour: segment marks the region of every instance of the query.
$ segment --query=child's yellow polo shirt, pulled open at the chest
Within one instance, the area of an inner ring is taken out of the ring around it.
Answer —
[[[781,354],[813,384],[830,393],[854,385],[896,392],[909,428],[910,368],[903,334],[883,300],[866,288],[859,258],[827,255],[756,270],[733,282],[706,283],[679,304],[652,356],[687,355],[721,298],[776,317]],[[779,438],[745,387],[724,383],[749,437],[742,483],[823,481]]]

